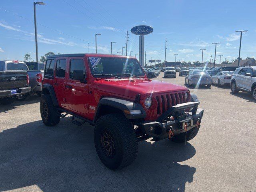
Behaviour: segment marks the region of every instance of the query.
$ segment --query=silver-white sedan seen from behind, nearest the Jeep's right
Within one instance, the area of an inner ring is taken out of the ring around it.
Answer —
[[[206,71],[191,71],[185,77],[185,84],[188,86],[191,85],[207,85],[207,87],[211,87],[212,79],[211,76]]]

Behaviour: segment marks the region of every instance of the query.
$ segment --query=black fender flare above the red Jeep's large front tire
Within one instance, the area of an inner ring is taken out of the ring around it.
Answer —
[[[96,108],[94,115],[94,123],[96,123],[97,119],[99,118],[100,110],[103,106],[110,106],[121,110],[124,116],[128,119],[139,119],[146,117],[146,112],[142,105],[139,103],[118,98],[104,97],[99,101],[98,106]],[[124,113],[124,110],[140,110],[141,114],[126,114]]]

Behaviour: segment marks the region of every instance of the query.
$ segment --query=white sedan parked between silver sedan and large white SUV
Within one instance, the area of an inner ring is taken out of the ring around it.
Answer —
[[[221,71],[216,75],[212,76],[212,84],[217,84],[219,87],[221,85],[230,85],[231,76],[234,71]]]

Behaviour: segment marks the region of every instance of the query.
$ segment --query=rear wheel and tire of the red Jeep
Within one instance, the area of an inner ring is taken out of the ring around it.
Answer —
[[[47,114],[44,114],[44,110],[47,111]],[[60,116],[57,115],[57,108],[53,105],[52,98],[49,94],[41,96],[40,114],[46,126],[56,125],[60,122]]]

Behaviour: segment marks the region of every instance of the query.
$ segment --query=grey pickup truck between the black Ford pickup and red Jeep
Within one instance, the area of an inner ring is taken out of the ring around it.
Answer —
[[[9,70],[25,70],[27,71],[29,77],[29,86],[31,87],[30,93],[36,93],[38,96],[41,95],[42,91],[42,72],[41,70],[29,70],[28,66],[24,62],[20,61],[4,61],[4,69],[8,70],[8,65],[12,65],[12,69]],[[12,63],[12,64],[8,64]],[[19,94],[16,96],[17,101],[23,101],[28,97],[29,93],[27,94]]]

